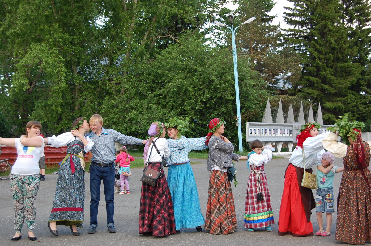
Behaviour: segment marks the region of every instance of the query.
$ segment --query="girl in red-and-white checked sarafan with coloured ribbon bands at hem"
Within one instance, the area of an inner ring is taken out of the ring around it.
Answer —
[[[264,164],[272,160],[272,149],[275,149],[272,145],[264,146],[257,139],[250,143],[250,147],[252,152],[247,155],[247,168],[251,168],[251,173],[247,181],[244,225],[248,232],[260,227],[265,227],[265,230],[270,232],[270,225],[273,225],[275,220]]]

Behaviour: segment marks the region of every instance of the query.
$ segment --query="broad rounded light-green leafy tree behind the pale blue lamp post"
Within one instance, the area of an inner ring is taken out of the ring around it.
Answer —
[[[136,63],[132,69],[137,74],[128,75],[124,94],[105,101],[105,119],[113,128],[135,134],[146,132],[152,121],[188,117],[194,134],[188,137],[200,137],[207,134],[212,118],[223,118],[227,133],[237,143],[232,54],[210,48],[204,41],[181,38],[153,61]],[[239,60],[242,122],[261,119],[265,106],[259,103],[266,97],[262,81],[249,67],[247,59]]]

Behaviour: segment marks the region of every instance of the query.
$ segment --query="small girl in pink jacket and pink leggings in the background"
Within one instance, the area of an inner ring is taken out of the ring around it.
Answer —
[[[116,157],[116,163],[120,163],[120,186],[121,186],[121,192],[120,194],[130,194],[129,191],[129,182],[128,182],[128,176],[125,174],[130,174],[130,162],[135,161],[134,157],[129,155],[128,149],[125,146],[122,146],[120,148],[120,154]],[[124,192],[124,185],[126,187],[126,192]]]

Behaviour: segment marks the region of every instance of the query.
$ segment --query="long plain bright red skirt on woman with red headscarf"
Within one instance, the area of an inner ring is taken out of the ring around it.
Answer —
[[[286,233],[294,237],[313,236],[312,222],[307,222],[305,216],[296,168],[291,164],[286,169],[278,219],[278,235]]]

